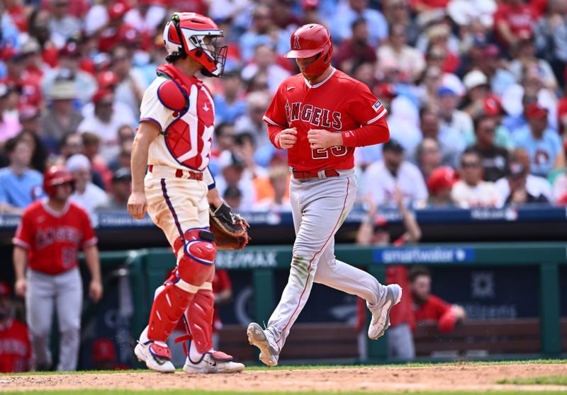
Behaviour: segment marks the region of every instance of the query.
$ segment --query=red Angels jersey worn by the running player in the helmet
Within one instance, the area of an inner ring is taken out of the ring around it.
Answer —
[[[266,110],[264,122],[296,127],[297,142],[288,149],[288,164],[296,170],[349,169],[354,167],[354,147],[311,149],[308,131],[352,133],[349,131],[374,124],[387,113],[366,85],[334,69],[327,79],[314,86],[301,74],[284,80]]]

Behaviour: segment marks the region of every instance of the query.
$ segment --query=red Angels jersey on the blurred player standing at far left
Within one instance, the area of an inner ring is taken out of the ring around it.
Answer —
[[[57,213],[40,200],[23,213],[13,244],[28,250],[31,269],[56,275],[75,268],[79,250],[94,246],[96,236],[88,214],[79,206],[68,202]]]

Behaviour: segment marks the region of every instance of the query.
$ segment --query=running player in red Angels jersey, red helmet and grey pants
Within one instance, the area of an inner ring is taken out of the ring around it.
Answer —
[[[276,92],[264,122],[271,143],[288,150],[290,199],[296,241],[288,284],[265,330],[249,324],[248,340],[260,360],[278,364],[291,326],[313,282],[355,294],[372,313],[368,336],[383,336],[390,310],[400,302],[399,285],[381,285],[369,273],[335,259],[334,236],[357,195],[354,148],[387,142],[386,108],[369,88],[331,66],[329,31],[315,23],[291,35],[301,74],[288,77]]]

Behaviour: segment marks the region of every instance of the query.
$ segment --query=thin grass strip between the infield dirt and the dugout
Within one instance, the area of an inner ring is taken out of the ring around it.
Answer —
[[[454,362],[410,362],[387,365],[281,365],[276,367],[247,366],[246,370],[312,370],[312,369],[353,369],[359,367],[432,367],[432,366],[481,366],[481,365],[527,365],[527,364],[567,364],[563,360],[503,360],[503,361],[454,361]],[[179,369],[179,372],[182,370]],[[113,373],[150,373],[147,369],[134,370],[81,370],[78,372],[25,372],[25,373],[0,373],[0,377],[6,375],[48,375],[48,374],[113,374]]]

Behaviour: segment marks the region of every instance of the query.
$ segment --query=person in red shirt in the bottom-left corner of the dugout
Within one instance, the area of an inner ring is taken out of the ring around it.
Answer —
[[[10,287],[0,282],[0,372],[28,372],[31,343],[28,327],[13,316]]]

